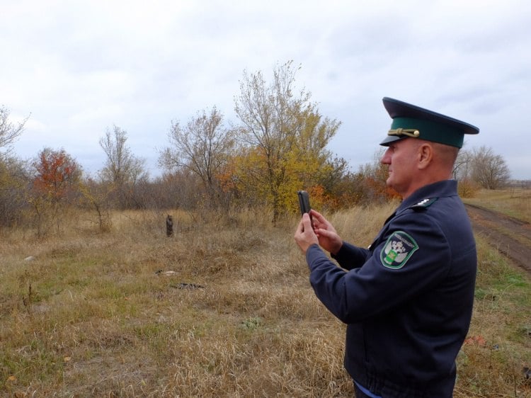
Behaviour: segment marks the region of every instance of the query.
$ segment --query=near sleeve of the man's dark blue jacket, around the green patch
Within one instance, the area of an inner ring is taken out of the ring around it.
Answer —
[[[391,268],[386,258],[396,233],[411,237],[418,248],[400,266]],[[342,265],[349,263],[348,253],[353,258],[350,263],[360,260],[360,252],[350,246],[340,251]],[[387,224],[360,268],[350,271],[338,268],[317,245],[308,249],[307,263],[310,283],[319,300],[342,322],[353,323],[433,288],[447,275],[451,253],[445,235],[434,220],[425,214],[408,213]]]

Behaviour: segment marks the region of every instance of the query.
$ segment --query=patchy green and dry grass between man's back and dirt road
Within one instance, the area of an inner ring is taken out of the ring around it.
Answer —
[[[478,239],[479,270],[469,336],[457,358],[458,397],[527,397],[531,361],[531,280]]]

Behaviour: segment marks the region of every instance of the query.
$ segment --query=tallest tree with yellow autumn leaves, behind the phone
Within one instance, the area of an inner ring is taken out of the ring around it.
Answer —
[[[295,207],[297,189],[319,186],[333,164],[326,145],[340,125],[323,118],[309,92],[296,91],[298,69],[275,67],[270,84],[261,72],[244,72],[235,101],[244,149],[234,159],[234,181],[254,204],[270,207],[273,222]]]

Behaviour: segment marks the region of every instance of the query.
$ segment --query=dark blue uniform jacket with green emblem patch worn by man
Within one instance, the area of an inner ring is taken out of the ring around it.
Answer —
[[[348,324],[345,368],[372,393],[452,397],[455,358],[472,317],[476,244],[456,181],[420,188],[370,249],[307,250],[319,300]]]

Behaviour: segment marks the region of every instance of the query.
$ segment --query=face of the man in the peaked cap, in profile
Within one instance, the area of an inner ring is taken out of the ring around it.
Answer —
[[[419,142],[414,138],[404,138],[392,142],[380,160],[389,166],[387,186],[406,198],[414,191],[413,183],[417,175]]]

